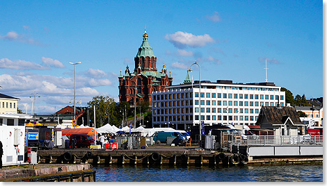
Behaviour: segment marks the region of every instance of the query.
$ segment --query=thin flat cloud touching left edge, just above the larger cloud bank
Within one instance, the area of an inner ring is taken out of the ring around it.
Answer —
[[[37,69],[44,70],[49,69],[49,67],[43,67],[35,62],[29,62],[25,60],[12,61],[7,58],[0,59],[0,68],[2,69]]]

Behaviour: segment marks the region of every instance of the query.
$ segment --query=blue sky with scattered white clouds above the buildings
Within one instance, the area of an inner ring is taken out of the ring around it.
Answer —
[[[325,3],[325,2],[324,2]],[[267,79],[307,99],[323,96],[321,1],[1,1],[1,94],[52,114],[94,96],[118,99],[118,75],[134,70],[148,41],[182,83],[197,61],[201,81]],[[190,74],[198,80],[198,67]],[[40,97],[39,97],[40,96]],[[34,104],[34,103],[33,103]]]

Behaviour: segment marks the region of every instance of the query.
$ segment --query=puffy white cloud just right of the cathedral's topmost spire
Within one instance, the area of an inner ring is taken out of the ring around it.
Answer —
[[[184,49],[188,47],[205,47],[209,42],[215,42],[210,35],[193,35],[191,33],[186,33],[182,31],[177,31],[176,33],[166,35],[166,40],[173,43],[175,47],[179,49]]]

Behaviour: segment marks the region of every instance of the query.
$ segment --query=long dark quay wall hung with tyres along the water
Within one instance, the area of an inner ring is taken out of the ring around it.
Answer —
[[[160,146],[134,150],[104,149],[53,149],[40,150],[39,162],[103,164],[171,164],[196,166],[235,166],[235,165],[273,165],[273,164],[322,164],[322,156],[307,157],[261,157],[252,158],[234,153],[205,151],[195,147]],[[51,157],[51,161],[49,158]]]

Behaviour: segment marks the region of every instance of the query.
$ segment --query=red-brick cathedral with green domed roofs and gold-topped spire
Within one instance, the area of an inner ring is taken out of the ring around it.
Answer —
[[[147,37],[149,35],[145,28],[143,42],[134,58],[134,70],[130,71],[127,65],[124,76],[120,71],[118,76],[120,103],[127,101],[130,105],[134,105],[136,97],[136,105],[139,101],[148,101],[152,105],[152,92],[163,91],[173,84],[171,72],[167,75],[164,64],[161,71],[157,71],[157,57],[154,56]]]

